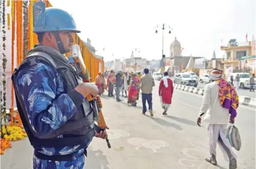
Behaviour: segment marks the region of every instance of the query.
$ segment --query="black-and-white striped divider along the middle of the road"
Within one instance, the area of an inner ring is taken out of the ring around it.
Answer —
[[[197,95],[204,95],[204,88],[197,88],[193,86],[184,86],[181,84],[174,84],[174,88],[178,90],[183,90],[187,92],[192,92]],[[255,98],[248,98],[246,96],[239,96],[239,103],[243,105],[247,105],[249,107],[256,108],[256,99]]]

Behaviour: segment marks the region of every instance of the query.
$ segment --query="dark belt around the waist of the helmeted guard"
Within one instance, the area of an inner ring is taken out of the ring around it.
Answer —
[[[81,154],[72,153],[72,154],[66,154],[66,155],[46,155],[46,154],[40,153],[37,150],[34,151],[34,154],[35,154],[35,157],[39,159],[53,160],[53,161],[72,161],[74,157],[77,158],[82,155],[85,155],[87,157],[86,149],[84,149],[84,153],[81,153]]]

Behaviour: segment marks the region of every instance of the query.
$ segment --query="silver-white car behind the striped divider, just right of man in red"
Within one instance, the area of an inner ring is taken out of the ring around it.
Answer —
[[[174,75],[174,83],[194,87],[197,87],[198,84],[197,79],[188,73],[176,73]]]

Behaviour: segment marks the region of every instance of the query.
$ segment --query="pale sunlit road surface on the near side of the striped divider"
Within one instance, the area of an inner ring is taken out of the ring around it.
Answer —
[[[141,97],[138,107],[120,103],[115,98],[102,96],[102,109],[110,127],[108,131],[112,148],[94,138],[88,147],[84,168],[228,168],[217,148],[218,167],[205,162],[208,157],[207,124],[196,125],[202,96],[180,90],[174,91],[168,116],[162,115],[158,86],[153,91],[155,116],[141,115]],[[255,168],[255,110],[240,106],[236,126],[242,139],[242,148],[235,151],[238,168]],[[32,168],[32,148],[28,140],[12,142],[13,148],[1,155],[2,169]],[[21,167],[22,166],[22,167]]]

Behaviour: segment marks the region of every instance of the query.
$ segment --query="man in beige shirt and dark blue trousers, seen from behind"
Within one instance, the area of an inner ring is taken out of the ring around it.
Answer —
[[[150,116],[154,116],[153,108],[152,108],[152,90],[155,86],[154,78],[152,78],[149,74],[149,70],[144,69],[144,75],[141,77],[140,85],[142,91],[142,114],[145,115],[147,112],[146,102],[148,104],[148,111],[150,112]]]

